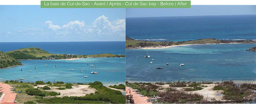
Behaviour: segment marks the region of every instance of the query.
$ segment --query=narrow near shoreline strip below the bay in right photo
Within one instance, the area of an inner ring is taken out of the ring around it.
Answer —
[[[140,82],[142,82],[142,83],[155,83],[155,82],[177,82],[177,81],[131,81],[131,80],[126,80],[126,81],[128,81],[129,83],[140,83]],[[224,80],[224,81],[233,81],[235,84],[243,84],[243,83],[250,83],[250,82],[252,82],[253,81],[253,79],[252,80],[246,80],[246,81],[243,81],[243,80]],[[182,81],[180,81],[180,82],[182,82]],[[186,83],[188,83],[189,81],[186,81]],[[193,81],[191,81],[191,83],[192,83]],[[221,82],[221,80],[220,81],[196,81],[196,82],[213,82],[213,83],[217,83],[217,82]],[[253,84],[256,84],[256,79],[253,81]]]

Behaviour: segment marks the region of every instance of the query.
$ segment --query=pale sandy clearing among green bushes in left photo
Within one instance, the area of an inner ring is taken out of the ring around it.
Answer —
[[[38,86],[43,87],[45,85],[38,85]],[[34,88],[37,88],[38,86],[35,86]],[[74,86],[72,86],[71,89],[64,89],[64,90],[56,89],[56,88],[59,88],[59,87],[49,86],[51,89],[46,90],[46,91],[54,91],[54,92],[60,93],[60,95],[57,96],[57,97],[62,97],[62,96],[85,96],[86,94],[95,93],[95,91],[97,91],[94,88],[89,88],[89,86],[90,85],[74,85]]]

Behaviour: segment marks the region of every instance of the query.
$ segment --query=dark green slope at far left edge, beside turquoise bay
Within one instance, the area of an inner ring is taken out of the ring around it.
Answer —
[[[0,68],[7,68],[10,66],[22,65],[18,60],[0,51]]]

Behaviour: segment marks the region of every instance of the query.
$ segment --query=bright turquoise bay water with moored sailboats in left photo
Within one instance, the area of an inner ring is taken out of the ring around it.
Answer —
[[[91,74],[93,65],[96,66],[98,74]],[[123,84],[125,82],[125,58],[88,58],[89,65],[87,65],[87,58],[75,60],[26,60],[20,61],[22,66],[16,66],[8,69],[1,69],[0,76],[3,80],[16,80],[24,78],[26,82],[35,82],[45,79],[50,82],[57,81],[71,82],[71,83],[89,83],[100,81],[104,84]],[[48,66],[45,66],[47,63]],[[53,68],[57,65],[56,68]],[[81,67],[82,65],[82,67]],[[37,69],[33,69],[37,67]],[[58,69],[60,67],[60,69]],[[23,68],[23,71],[20,69]],[[81,69],[82,68],[82,69]],[[74,70],[69,70],[74,69]],[[84,78],[86,69],[86,76]],[[29,72],[32,70],[32,72]],[[83,70],[82,73],[79,71]],[[17,73],[14,73],[17,72]]]

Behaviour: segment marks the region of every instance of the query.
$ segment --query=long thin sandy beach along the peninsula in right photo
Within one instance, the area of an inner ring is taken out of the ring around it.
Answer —
[[[207,43],[207,44],[187,44],[187,45],[172,45],[172,46],[158,46],[158,47],[143,47],[137,49],[166,49],[170,47],[179,47],[179,46],[190,46],[190,45],[215,45],[216,43]],[[241,43],[219,43],[219,44],[241,44]]]

